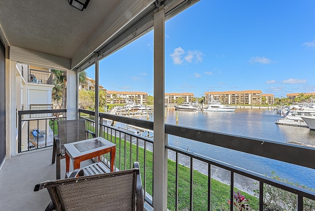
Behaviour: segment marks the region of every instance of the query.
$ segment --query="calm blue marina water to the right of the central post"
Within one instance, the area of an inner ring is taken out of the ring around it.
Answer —
[[[279,115],[271,110],[236,109],[235,112],[179,111],[178,125],[215,132],[240,135],[272,141],[298,141],[315,146],[315,131],[309,128],[277,125]],[[176,124],[173,108],[166,111],[165,123]],[[274,171],[281,178],[315,188],[315,170],[261,158],[210,144],[169,136],[169,143],[258,174],[271,175]],[[288,155],[289,156],[289,155]],[[311,161],[313,162],[313,161]]]

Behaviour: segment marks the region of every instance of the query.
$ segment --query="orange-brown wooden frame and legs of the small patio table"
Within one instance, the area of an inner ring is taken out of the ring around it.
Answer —
[[[77,143],[87,142],[99,140],[102,143],[105,143],[106,146],[98,147],[95,149],[91,149],[85,152],[80,152],[74,145]],[[83,140],[83,141],[76,141],[72,143],[64,144],[65,150],[65,174],[69,173],[70,169],[70,158],[73,160],[73,170],[80,169],[81,161],[85,161],[92,158],[98,158],[98,162],[100,161],[100,156],[106,153],[110,153],[110,171],[114,171],[114,160],[116,154],[116,144],[103,139],[102,137],[97,137],[93,139]]]

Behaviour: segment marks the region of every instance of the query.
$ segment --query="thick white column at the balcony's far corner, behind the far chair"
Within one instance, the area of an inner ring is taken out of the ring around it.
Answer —
[[[78,116],[78,78],[77,72],[67,70],[67,120],[77,119]]]

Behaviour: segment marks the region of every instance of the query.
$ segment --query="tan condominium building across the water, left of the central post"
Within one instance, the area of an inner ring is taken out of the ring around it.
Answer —
[[[148,93],[106,91],[106,103],[108,104],[124,104],[127,100],[136,104],[148,104]]]

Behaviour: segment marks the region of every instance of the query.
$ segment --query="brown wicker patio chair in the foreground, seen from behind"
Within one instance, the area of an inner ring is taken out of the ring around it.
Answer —
[[[46,211],[143,211],[139,163],[135,162],[133,167],[101,175],[44,181],[34,191],[47,188],[52,202]],[[74,172],[71,176],[76,176]]]

